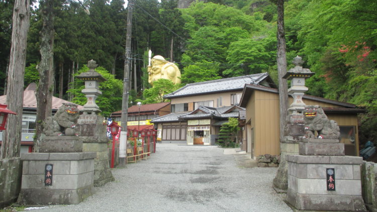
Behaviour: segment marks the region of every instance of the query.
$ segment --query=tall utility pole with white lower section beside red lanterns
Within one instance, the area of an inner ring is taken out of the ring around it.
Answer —
[[[123,74],[123,97],[122,97],[122,116],[121,116],[121,136],[119,138],[119,166],[125,167],[127,163],[127,121],[128,121],[128,90],[131,64],[131,34],[132,34],[132,10],[134,0],[128,0],[127,13],[127,33],[126,33],[126,53]]]

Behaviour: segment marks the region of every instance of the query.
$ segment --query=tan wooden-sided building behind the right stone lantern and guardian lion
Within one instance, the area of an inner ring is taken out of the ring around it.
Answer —
[[[290,97],[290,103],[293,98]],[[358,156],[357,114],[365,110],[356,105],[310,95],[304,95],[307,105],[320,105],[330,120],[340,128],[340,142],[345,144],[346,155]],[[274,88],[246,84],[240,106],[246,108],[242,149],[252,158],[259,155],[280,154],[279,142],[279,95]]]

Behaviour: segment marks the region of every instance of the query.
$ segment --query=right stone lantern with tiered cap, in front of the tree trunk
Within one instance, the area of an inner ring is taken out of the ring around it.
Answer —
[[[291,68],[283,78],[291,80],[291,88],[288,89],[288,93],[292,95],[293,102],[288,110],[297,114],[305,109],[305,103],[302,100],[304,92],[308,91],[308,87],[305,86],[305,79],[311,77],[314,72],[302,67],[304,61],[299,56],[293,59],[293,64],[296,66]]]

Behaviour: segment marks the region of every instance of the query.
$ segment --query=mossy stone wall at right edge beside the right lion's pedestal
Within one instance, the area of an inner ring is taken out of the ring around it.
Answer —
[[[363,161],[361,186],[366,207],[369,211],[377,212],[377,163]]]

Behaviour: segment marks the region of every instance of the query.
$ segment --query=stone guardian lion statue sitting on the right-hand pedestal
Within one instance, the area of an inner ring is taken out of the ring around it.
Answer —
[[[302,113],[307,138],[339,139],[338,124],[334,120],[329,120],[319,105],[306,105]]]

